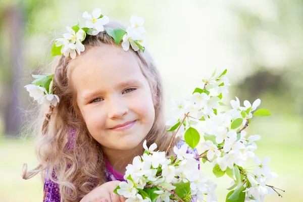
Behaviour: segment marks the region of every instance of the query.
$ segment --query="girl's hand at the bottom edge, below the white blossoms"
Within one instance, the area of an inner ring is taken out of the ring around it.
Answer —
[[[124,202],[126,198],[122,198],[122,200],[120,199],[120,197],[115,194],[115,195],[111,195],[111,193],[113,193],[113,191],[115,190],[115,188],[119,185],[121,181],[110,181],[110,182],[106,182],[101,186],[96,187],[95,189],[93,189],[91,192],[89,192],[88,194],[86,194],[81,200],[80,202],[100,202],[102,199],[102,201],[106,202]],[[112,199],[113,197],[113,199]]]

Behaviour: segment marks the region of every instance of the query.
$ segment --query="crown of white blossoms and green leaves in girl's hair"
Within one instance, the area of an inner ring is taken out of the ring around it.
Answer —
[[[82,42],[85,40],[86,35],[97,35],[99,32],[106,31],[108,35],[113,37],[116,44],[119,45],[122,40],[122,48],[124,51],[128,51],[129,46],[134,51],[145,51],[146,43],[146,30],[143,27],[143,18],[136,15],[131,16],[130,26],[127,29],[116,28],[110,29],[104,28],[104,25],[109,23],[110,19],[107,16],[102,15],[101,9],[94,9],[90,14],[86,11],[82,14],[82,17],[78,20],[78,24],[72,27],[66,27],[69,33],[63,34],[62,38],[57,38],[52,48],[51,57],[64,55],[65,57],[76,58],[78,54],[85,50]],[[54,107],[60,102],[59,97],[53,94],[52,75],[32,75],[35,80],[32,84],[24,86],[29,92],[29,95],[37,100],[39,104],[46,103],[53,105]]]

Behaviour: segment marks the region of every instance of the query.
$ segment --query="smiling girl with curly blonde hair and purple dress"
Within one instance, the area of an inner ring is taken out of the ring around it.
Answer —
[[[52,89],[60,102],[50,105],[37,137],[39,165],[27,171],[25,164],[23,178],[42,173],[43,201],[125,201],[113,190],[143,154],[143,141],[164,151],[172,138],[163,120],[162,80],[146,51],[124,51],[105,31],[82,44],[80,56],[59,60]],[[182,144],[176,139],[171,148]]]

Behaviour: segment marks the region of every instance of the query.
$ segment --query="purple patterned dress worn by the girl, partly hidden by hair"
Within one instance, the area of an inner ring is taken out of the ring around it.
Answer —
[[[67,143],[67,146],[70,149],[72,149],[71,142],[74,138],[73,135],[74,134],[72,133],[71,141],[69,141]],[[180,148],[184,143],[185,143],[185,141],[181,140],[176,146],[178,148]],[[198,156],[198,152],[197,152],[196,148],[192,149],[192,148],[188,147],[186,153],[193,154],[194,157]],[[106,178],[107,178],[108,182],[115,181],[115,180],[124,181],[123,175],[121,173],[116,172],[107,160],[105,160],[105,164],[106,164],[105,174],[106,174]],[[45,176],[47,176],[47,175],[45,175]],[[53,174],[53,178],[55,178],[54,174]],[[57,183],[51,181],[48,178],[45,178],[43,193],[44,193],[43,202],[60,202],[61,197],[60,197],[59,186]]]

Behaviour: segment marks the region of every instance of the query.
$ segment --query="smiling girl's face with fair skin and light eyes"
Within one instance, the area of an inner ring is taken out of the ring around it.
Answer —
[[[155,120],[150,87],[133,52],[89,49],[71,64],[76,102],[91,136],[110,149],[132,149]]]

